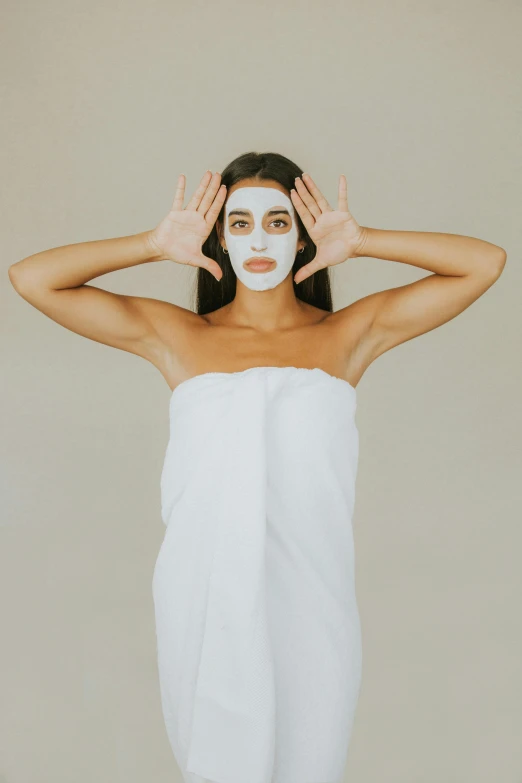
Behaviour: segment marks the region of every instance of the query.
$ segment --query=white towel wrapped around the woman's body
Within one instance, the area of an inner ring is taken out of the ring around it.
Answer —
[[[153,576],[185,783],[339,783],[362,673],[356,391],[320,369],[179,384]]]

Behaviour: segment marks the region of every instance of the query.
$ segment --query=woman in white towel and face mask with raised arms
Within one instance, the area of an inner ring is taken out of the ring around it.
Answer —
[[[207,171],[151,231],[10,267],[63,326],[167,381],[167,530],[153,595],[163,713],[188,783],[337,783],[361,681],[352,512],[356,386],[385,351],[498,279],[496,245],[360,226],[287,158]],[[369,256],[432,272],[332,312],[328,267]],[[87,285],[170,259],[198,267],[197,312]]]

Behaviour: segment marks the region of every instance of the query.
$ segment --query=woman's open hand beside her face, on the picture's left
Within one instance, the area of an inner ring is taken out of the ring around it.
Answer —
[[[220,185],[220,180],[221,174],[207,171],[183,209],[185,175],[180,174],[170,212],[148,234],[151,249],[160,258],[203,267],[216,280],[221,280],[223,276],[221,267],[217,261],[203,255],[201,248],[225,202],[227,189],[225,185]]]

